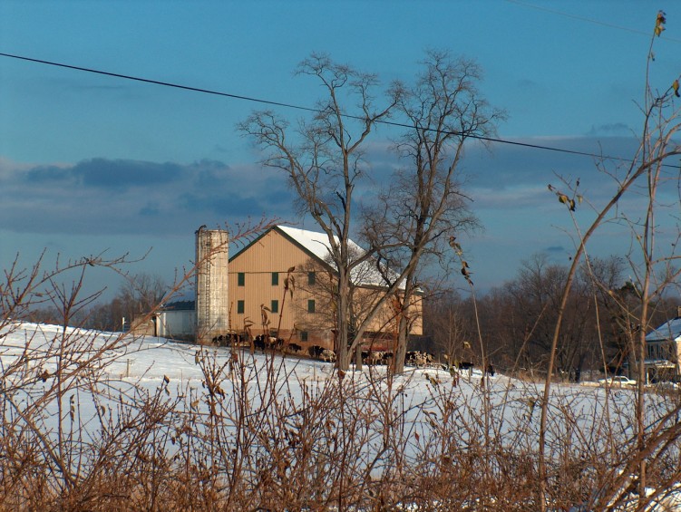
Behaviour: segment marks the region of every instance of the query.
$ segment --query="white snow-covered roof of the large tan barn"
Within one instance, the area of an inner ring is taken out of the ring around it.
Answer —
[[[298,244],[303,246],[308,252],[315,255],[322,261],[325,261],[329,265],[334,265],[328,256],[331,255],[331,246],[326,237],[326,233],[317,233],[316,231],[308,231],[306,229],[300,229],[297,227],[288,226],[277,226],[277,229],[281,230],[287,237],[292,238]],[[334,236],[337,241],[337,237]],[[365,250],[355,244],[352,240],[348,240],[348,248],[350,251],[354,252],[357,256],[365,254]],[[394,272],[389,271],[391,279],[396,279],[398,275]],[[364,286],[385,286],[387,285],[384,281],[383,276],[378,272],[375,267],[375,259],[371,258],[365,263],[355,266],[352,272],[352,279],[355,285]],[[400,285],[400,288],[404,289],[404,284]]]

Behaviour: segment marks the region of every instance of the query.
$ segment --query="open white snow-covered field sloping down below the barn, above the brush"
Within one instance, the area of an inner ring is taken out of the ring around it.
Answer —
[[[65,442],[101,449],[102,439],[110,438],[113,430],[120,436],[132,425],[139,428],[153,411],[159,418],[154,429],[144,430],[145,439],[161,443],[167,453],[181,453],[183,446],[200,438],[205,457],[218,457],[210,443],[203,442],[207,437],[223,436],[220,442],[235,450],[231,438],[248,434],[260,457],[269,448],[258,431],[271,436],[271,430],[279,429],[294,447],[304,441],[293,440],[295,436],[310,432],[318,439],[335,440],[338,422],[350,420],[343,414],[313,412],[319,404],[328,404],[331,411],[345,400],[342,403],[354,418],[348,425],[364,454],[347,470],[366,471],[375,481],[392,470],[381,461],[393,445],[391,464],[400,460],[421,467],[424,458],[442,459],[481,444],[493,444],[512,458],[537,455],[542,387],[498,373],[491,377],[476,370],[456,374],[442,368],[408,368],[389,377],[385,367],[365,366],[339,379],[331,364],[295,355],[285,359],[281,354],[243,350],[234,354],[229,348],[201,348],[160,338],[15,323],[0,331],[0,371],[5,430],[31,430],[47,449],[59,450]],[[352,401],[344,399],[345,393]],[[670,420],[666,414],[677,412],[677,402],[675,396],[648,395],[649,432],[675,424],[676,418]],[[598,472],[605,481],[621,478],[616,487],[626,487],[622,472],[636,442],[635,391],[556,384],[549,413],[547,456],[557,467],[572,449],[578,458],[590,461],[582,470],[585,478]],[[254,418],[258,423],[250,425]],[[319,433],[316,426],[325,421],[331,426]],[[244,425],[250,426],[240,430]],[[673,441],[660,457],[678,460]],[[73,471],[81,470],[82,459],[69,460]],[[647,509],[681,509],[674,484],[666,482],[665,492]],[[579,485],[588,488],[589,482]],[[589,492],[594,503],[598,501],[598,486]],[[616,489],[607,499],[619,500],[616,509],[628,510],[627,492]],[[579,503],[572,503],[578,510]],[[409,506],[418,509],[413,503]]]

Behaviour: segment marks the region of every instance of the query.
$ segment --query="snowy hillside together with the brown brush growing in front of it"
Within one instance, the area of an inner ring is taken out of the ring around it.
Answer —
[[[179,490],[190,484],[215,499],[238,491],[239,507],[345,509],[347,499],[361,510],[381,493],[413,510],[537,505],[518,489],[534,483],[527,468],[537,457],[541,390],[503,375],[409,368],[391,378],[376,366],[340,378],[330,363],[296,356],[12,323],[0,332],[0,365],[5,442],[42,448],[54,492],[112,478],[104,468],[113,465],[136,475],[133,487],[164,468],[172,499],[198,499]],[[586,510],[605,500],[630,509],[635,391],[552,389],[547,455],[563,486],[552,506]],[[651,394],[650,431],[673,425],[667,413],[676,406]],[[657,456],[678,454],[675,442]],[[489,478],[498,488],[482,484]],[[651,503],[672,503],[674,483]],[[337,486],[349,486],[347,496]],[[287,506],[272,507],[282,497]]]

